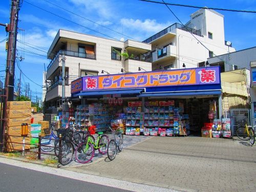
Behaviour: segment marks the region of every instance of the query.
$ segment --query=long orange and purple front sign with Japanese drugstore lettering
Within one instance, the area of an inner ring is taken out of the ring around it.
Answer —
[[[219,67],[207,67],[82,77],[82,91],[219,83]],[[76,89],[73,87],[71,93],[77,92],[79,86]]]

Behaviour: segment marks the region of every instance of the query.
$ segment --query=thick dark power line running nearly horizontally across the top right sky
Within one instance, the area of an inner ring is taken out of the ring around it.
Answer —
[[[192,8],[199,8],[199,9],[212,9],[212,10],[221,10],[221,11],[232,11],[232,12],[244,12],[244,13],[256,13],[256,11],[252,10],[237,10],[237,9],[223,9],[223,8],[213,8],[213,7],[201,7],[201,6],[194,6],[194,5],[182,5],[182,4],[174,4],[174,3],[162,3],[150,0],[139,0],[141,2],[150,2],[150,3],[157,3],[157,4],[165,4],[165,5],[174,5],[174,6],[181,6],[181,7],[192,7]]]

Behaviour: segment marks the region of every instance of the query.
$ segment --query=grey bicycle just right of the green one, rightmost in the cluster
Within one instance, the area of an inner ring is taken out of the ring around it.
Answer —
[[[123,134],[121,132],[120,127],[118,127],[116,130],[112,129],[111,127],[109,127],[109,129],[111,130],[114,139],[111,139],[109,144],[108,144],[108,158],[112,161],[116,158],[116,154],[117,154],[117,148],[118,151],[121,152],[122,148],[123,148]]]

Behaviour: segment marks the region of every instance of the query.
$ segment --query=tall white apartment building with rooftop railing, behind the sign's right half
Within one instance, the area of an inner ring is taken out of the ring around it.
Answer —
[[[200,9],[143,42],[152,44],[152,70],[203,67],[208,57],[235,51],[224,36],[224,16]]]

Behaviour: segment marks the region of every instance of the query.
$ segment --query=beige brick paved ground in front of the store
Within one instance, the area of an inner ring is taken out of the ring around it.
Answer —
[[[232,139],[151,137],[114,161],[70,168],[183,191],[256,191],[256,146]]]

